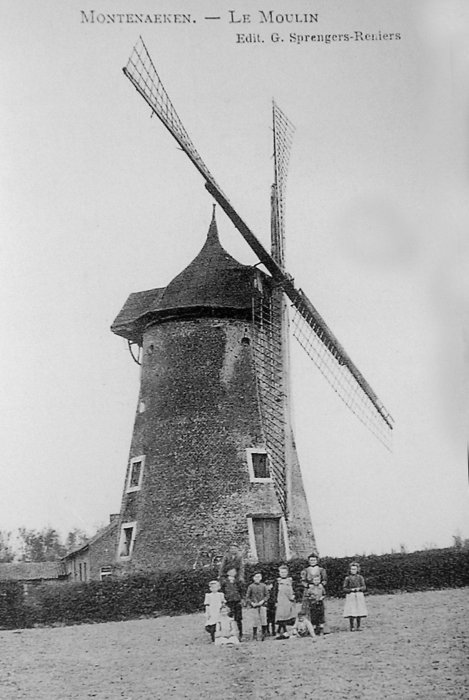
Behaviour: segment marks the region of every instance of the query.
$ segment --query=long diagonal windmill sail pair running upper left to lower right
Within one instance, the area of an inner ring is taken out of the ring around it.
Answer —
[[[208,192],[290,299],[295,308],[294,335],[302,347],[344,403],[378,439],[388,446],[393,428],[391,415],[306,294],[295,287],[293,278],[283,270],[282,263],[279,264],[267,252],[223,194],[185,130],[141,37],[123,70],[153,113],[162,121],[201,173]]]

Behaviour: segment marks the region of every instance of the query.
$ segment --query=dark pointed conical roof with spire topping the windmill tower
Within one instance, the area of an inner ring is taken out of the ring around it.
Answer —
[[[253,271],[223,248],[215,212],[207,240],[194,260],[164,290],[159,312],[189,308],[250,309]]]

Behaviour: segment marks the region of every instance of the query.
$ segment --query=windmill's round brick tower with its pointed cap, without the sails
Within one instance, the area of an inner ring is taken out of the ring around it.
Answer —
[[[132,294],[114,321],[141,347],[142,365],[120,514],[124,567],[180,568],[233,540],[260,560],[314,546],[272,306],[271,278],[223,249],[214,213],[190,265],[165,288]],[[283,459],[272,458],[272,440]]]

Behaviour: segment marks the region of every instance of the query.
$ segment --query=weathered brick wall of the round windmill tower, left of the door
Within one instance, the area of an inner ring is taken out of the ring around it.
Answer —
[[[140,490],[124,489],[121,524],[136,522],[137,533],[120,563],[187,567],[199,550],[231,540],[248,550],[247,514],[281,515],[273,485],[250,482],[249,447],[264,447],[249,322],[148,328],[130,451],[145,455],[145,468]]]

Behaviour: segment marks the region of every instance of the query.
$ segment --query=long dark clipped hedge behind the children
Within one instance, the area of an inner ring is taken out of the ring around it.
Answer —
[[[324,557],[321,565],[327,570],[328,596],[342,595],[344,577],[354,560],[360,563],[370,594],[469,586],[469,552],[449,548],[410,554]],[[300,571],[306,563],[288,562],[298,598]],[[278,563],[248,565],[246,580],[255,571],[261,571],[264,580],[276,578],[277,568]],[[197,612],[202,609],[208,582],[216,576],[214,569],[141,573],[102,582],[43,584],[27,595],[20,583],[0,583],[0,626],[11,629]]]

